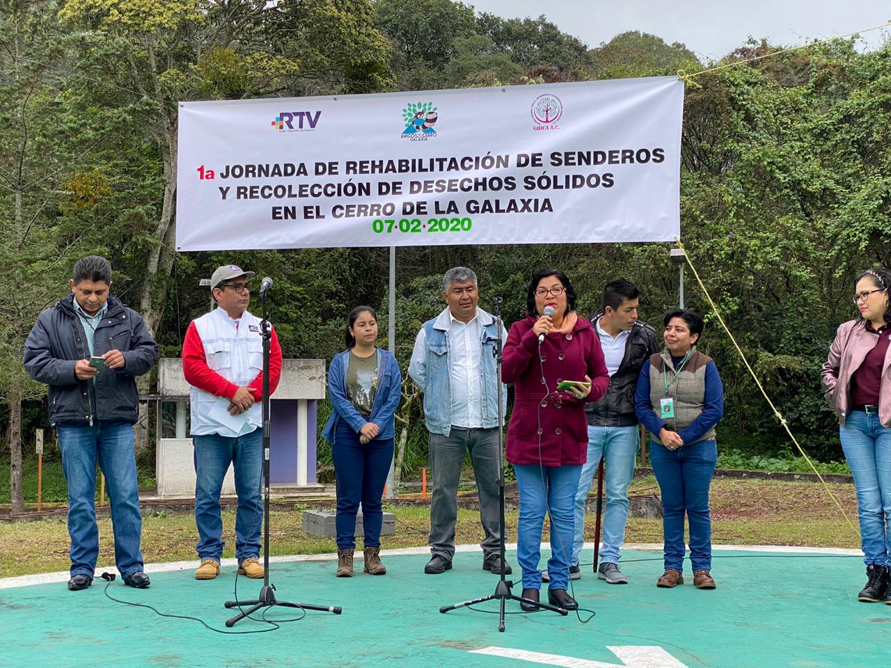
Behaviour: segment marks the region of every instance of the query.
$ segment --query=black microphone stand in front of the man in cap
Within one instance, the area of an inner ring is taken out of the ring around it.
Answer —
[[[319,610],[339,615],[339,606],[315,606],[308,603],[290,603],[275,599],[275,585],[269,582],[269,347],[273,338],[272,324],[269,322],[269,313],[266,310],[266,290],[260,290],[260,298],[263,301],[263,320],[260,321],[260,332],[263,336],[263,587],[260,595],[253,600],[227,600],[225,607],[237,607],[240,612],[232,619],[226,620],[226,627],[233,627],[245,617],[257,612],[261,607],[298,607],[303,610]],[[247,611],[242,607],[250,606]]]

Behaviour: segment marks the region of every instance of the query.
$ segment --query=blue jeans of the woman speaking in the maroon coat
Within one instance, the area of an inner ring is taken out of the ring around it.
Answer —
[[[513,470],[519,488],[517,563],[523,569],[523,589],[542,586],[538,561],[545,510],[551,515],[551,558],[548,559],[551,589],[566,589],[574,535],[574,503],[582,467],[514,464]]]

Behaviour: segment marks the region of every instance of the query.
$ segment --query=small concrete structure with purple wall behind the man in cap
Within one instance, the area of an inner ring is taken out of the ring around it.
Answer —
[[[176,402],[176,437],[164,438],[158,411],[155,476],[161,499],[195,493],[192,438],[188,436],[189,384],[179,358],[159,360],[160,403]],[[321,493],[315,480],[316,406],[325,396],[324,360],[283,360],[282,379],[270,404],[270,486],[273,493]],[[160,405],[159,405],[160,408]],[[223,484],[234,494],[232,468]]]

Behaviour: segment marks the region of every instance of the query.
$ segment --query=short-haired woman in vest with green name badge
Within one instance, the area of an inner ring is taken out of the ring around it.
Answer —
[[[693,584],[715,589],[708,489],[718,459],[715,425],[723,416],[723,385],[715,362],[696,349],[702,318],[679,310],[664,322],[666,347],[643,363],[634,396],[634,412],[650,431],[650,461],[662,492],[665,573],[656,584],[683,584],[686,516]]]

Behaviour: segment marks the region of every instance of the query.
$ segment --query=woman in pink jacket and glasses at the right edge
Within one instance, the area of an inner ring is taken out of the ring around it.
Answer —
[[[838,413],[839,437],[854,475],[868,581],[857,599],[891,605],[891,272],[857,279],[860,317],[845,322],[823,364],[826,400]]]

